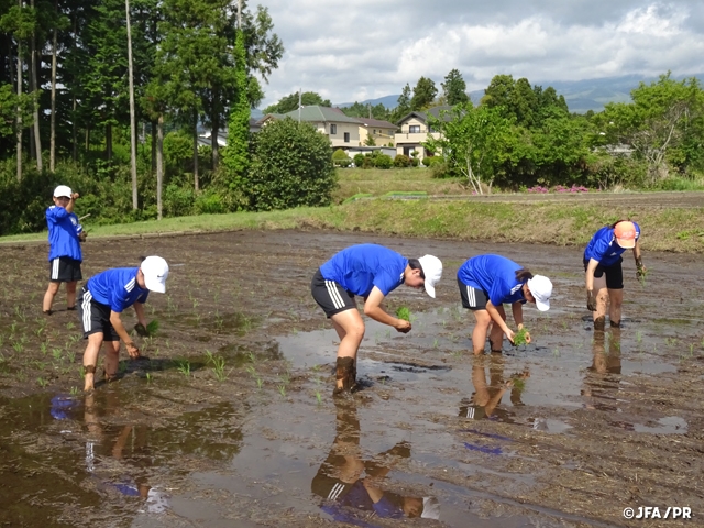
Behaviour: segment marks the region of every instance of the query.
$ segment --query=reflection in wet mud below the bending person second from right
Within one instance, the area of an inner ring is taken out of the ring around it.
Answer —
[[[504,381],[505,358],[501,353],[493,353],[490,358],[488,382],[484,366],[485,356],[474,358],[474,364],[472,365],[474,393],[471,399],[462,399],[460,404],[460,416],[473,420],[486,418],[505,424],[514,424],[516,421],[516,414],[501,406],[502,398],[506,392],[510,391],[512,404],[515,407],[524,405],[520,396],[524,391],[525,381],[530,377],[530,373],[526,370]]]

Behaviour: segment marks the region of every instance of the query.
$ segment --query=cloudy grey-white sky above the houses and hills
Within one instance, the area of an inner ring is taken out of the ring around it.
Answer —
[[[675,0],[260,0],[286,53],[264,106],[297,91],[332,102],[496,74],[532,84],[704,73],[704,2]],[[254,0],[250,0],[254,4]]]

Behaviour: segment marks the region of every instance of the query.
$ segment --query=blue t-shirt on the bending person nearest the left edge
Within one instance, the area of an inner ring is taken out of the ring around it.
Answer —
[[[116,267],[107,270],[88,279],[86,289],[92,294],[96,302],[109,306],[112,311],[121,314],[134,302],[146,302],[148,289],[136,284],[139,267]]]

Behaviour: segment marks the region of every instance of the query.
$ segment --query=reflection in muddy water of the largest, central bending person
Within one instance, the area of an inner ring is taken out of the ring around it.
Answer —
[[[381,488],[381,481],[399,459],[410,457],[410,444],[399,442],[372,460],[363,461],[360,420],[353,399],[336,399],[337,436],[330,454],[320,465],[310,487],[326,502],[321,508],[336,521],[375,526],[371,517],[422,517],[438,519],[433,497],[402,496]]]

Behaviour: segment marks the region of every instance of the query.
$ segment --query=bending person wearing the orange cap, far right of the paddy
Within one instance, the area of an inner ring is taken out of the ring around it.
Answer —
[[[584,250],[586,282],[586,308],[593,314],[594,329],[604,330],[606,304],[610,301],[608,318],[610,326],[620,327],[624,304],[624,271],[622,255],[632,249],[636,258],[636,276],[644,279],[646,266],[640,257],[640,227],[636,222],[619,220],[606,226],[592,237]]]

